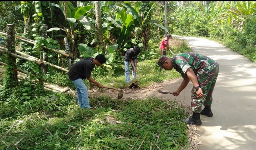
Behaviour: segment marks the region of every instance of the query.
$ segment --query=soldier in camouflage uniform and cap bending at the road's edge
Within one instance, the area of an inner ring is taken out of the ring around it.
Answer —
[[[158,65],[160,71],[174,68],[182,75],[183,81],[180,87],[173,92],[174,96],[178,96],[190,80],[194,85],[191,90],[193,116],[183,121],[187,124],[201,125],[200,114],[213,116],[211,112],[212,92],[219,72],[219,64],[216,61],[198,53],[179,53],[172,58],[163,55],[159,58]],[[204,110],[202,110],[202,104]]]

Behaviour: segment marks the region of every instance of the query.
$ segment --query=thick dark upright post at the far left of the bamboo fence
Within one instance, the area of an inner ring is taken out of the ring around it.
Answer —
[[[7,24],[7,50],[10,53],[15,53],[15,31],[14,31],[14,25],[13,24]],[[7,61],[7,64],[10,65],[10,67],[7,67],[7,71],[9,73],[9,77],[11,77],[14,84],[12,86],[18,85],[18,73],[17,73],[17,65],[16,65],[16,58],[8,55],[7,58],[9,61]]]

